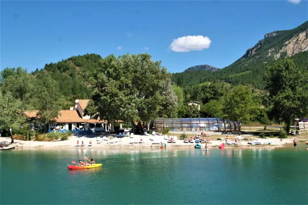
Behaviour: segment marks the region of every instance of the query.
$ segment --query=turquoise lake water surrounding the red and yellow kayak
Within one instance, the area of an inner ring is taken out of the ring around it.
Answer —
[[[94,158],[102,167],[67,170]],[[1,204],[308,204],[297,148],[1,151]]]

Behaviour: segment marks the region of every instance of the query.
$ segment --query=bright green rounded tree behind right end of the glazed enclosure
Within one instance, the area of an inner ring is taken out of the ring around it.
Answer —
[[[259,108],[253,100],[251,88],[239,85],[234,87],[224,98],[223,112],[226,118],[236,121],[241,131],[241,123],[255,119],[259,113]]]

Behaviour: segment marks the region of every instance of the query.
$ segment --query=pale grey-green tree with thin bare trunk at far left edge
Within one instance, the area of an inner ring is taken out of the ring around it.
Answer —
[[[13,133],[20,130],[25,123],[23,106],[19,99],[15,99],[10,92],[0,91],[0,129],[10,132],[11,143],[14,143]]]

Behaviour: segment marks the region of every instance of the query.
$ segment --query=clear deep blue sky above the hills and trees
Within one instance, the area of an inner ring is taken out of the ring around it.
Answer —
[[[223,68],[264,34],[306,20],[307,1],[300,0],[1,1],[1,69],[143,52],[170,72],[199,64]]]

